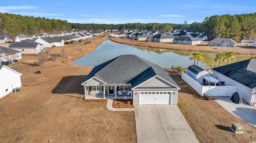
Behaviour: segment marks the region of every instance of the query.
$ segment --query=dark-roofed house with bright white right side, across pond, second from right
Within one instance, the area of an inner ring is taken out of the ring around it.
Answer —
[[[185,45],[196,45],[200,44],[200,39],[194,37],[179,37],[174,38],[172,43],[174,44],[185,44]]]

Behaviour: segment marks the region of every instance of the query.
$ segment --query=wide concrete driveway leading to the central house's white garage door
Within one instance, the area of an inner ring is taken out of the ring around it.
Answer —
[[[199,143],[177,105],[134,106],[138,143]]]

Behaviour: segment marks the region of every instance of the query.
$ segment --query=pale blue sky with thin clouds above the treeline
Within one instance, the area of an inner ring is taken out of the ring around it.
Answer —
[[[4,0],[0,12],[81,24],[203,22],[256,12],[255,0]]]

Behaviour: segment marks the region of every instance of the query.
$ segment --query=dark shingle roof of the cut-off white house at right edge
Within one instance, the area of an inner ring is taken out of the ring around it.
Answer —
[[[256,59],[248,59],[213,69],[248,88],[256,88]]]

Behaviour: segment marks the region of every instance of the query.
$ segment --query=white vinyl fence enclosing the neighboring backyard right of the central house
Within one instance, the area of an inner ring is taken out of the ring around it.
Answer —
[[[201,96],[204,96],[204,94],[208,94],[209,96],[232,96],[234,92],[237,92],[237,86],[202,86],[183,71],[181,78]]]

